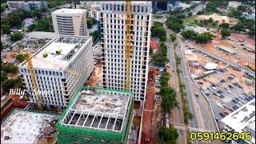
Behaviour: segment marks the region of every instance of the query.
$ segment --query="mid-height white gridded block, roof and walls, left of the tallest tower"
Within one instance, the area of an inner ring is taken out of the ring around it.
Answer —
[[[71,96],[94,70],[91,37],[58,35],[32,57],[43,106],[67,106]],[[30,103],[37,104],[36,95],[31,92],[34,89],[26,62],[19,65],[19,71],[28,90]]]

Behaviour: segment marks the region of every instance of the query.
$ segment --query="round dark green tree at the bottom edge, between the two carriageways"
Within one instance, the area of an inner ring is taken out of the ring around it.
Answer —
[[[167,143],[174,143],[178,138],[178,131],[175,128],[167,128],[165,126],[161,126],[158,132],[159,137],[162,141]]]

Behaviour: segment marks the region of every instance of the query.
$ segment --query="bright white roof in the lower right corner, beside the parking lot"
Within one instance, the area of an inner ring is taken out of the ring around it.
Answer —
[[[227,115],[222,122],[239,133],[252,131],[255,136],[255,99]],[[251,142],[255,142],[255,137]]]

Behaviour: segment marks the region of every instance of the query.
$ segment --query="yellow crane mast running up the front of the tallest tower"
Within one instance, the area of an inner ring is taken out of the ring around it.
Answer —
[[[126,90],[130,90],[130,25],[131,25],[131,12],[130,0],[126,0]]]

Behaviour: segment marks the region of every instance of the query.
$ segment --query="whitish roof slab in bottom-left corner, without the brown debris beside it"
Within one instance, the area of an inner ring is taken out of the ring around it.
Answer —
[[[2,143],[37,143],[46,122],[53,121],[56,115],[14,110],[1,126]]]

